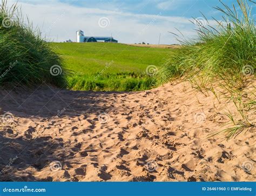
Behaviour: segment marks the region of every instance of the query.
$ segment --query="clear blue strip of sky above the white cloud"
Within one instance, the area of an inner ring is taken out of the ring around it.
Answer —
[[[62,0],[61,2],[69,3],[76,6],[85,6],[87,8],[101,8],[107,10],[122,10],[131,13],[146,13],[155,15],[158,12],[165,16],[185,16],[185,17],[199,17],[200,11],[206,17],[219,18],[219,12],[213,7],[221,5],[218,0],[131,0],[131,1],[72,1]],[[236,0],[224,0],[225,4],[232,5]]]

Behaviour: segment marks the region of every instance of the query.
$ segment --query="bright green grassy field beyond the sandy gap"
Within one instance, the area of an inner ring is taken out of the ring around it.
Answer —
[[[73,90],[150,89],[156,80],[146,68],[154,65],[159,70],[174,51],[111,43],[51,43],[51,47],[72,71],[68,84]]]

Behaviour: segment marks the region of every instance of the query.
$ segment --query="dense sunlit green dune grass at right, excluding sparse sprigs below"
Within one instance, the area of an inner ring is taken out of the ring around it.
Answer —
[[[216,8],[224,13],[223,22],[218,26],[199,26],[198,40],[185,42],[179,55],[173,55],[161,70],[161,82],[186,74],[202,78],[200,84],[207,86],[216,78],[244,79],[244,71],[253,73],[256,67],[255,21],[246,1],[239,0],[242,11]],[[206,20],[206,19],[205,19]],[[231,23],[231,27],[227,24]],[[196,25],[196,24],[195,24]],[[197,25],[196,25],[197,26]],[[197,43],[197,44],[196,44]],[[249,73],[250,74],[250,73]],[[254,73],[255,74],[255,73]]]

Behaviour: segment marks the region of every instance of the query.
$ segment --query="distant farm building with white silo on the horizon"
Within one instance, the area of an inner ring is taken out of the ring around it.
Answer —
[[[95,36],[84,36],[84,32],[79,30],[77,31],[77,43],[84,43],[84,42],[97,42],[97,41],[104,41],[109,43],[118,43],[116,39],[113,37],[95,37]]]

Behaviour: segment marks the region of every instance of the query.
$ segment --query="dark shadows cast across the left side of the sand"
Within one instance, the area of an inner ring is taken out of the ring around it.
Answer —
[[[61,115],[75,117],[90,114],[107,113],[114,108],[106,102],[113,102],[118,92],[79,92],[42,86],[33,90],[0,90],[0,108],[15,117],[41,118],[48,121]],[[109,98],[111,95],[111,99]],[[104,99],[103,99],[104,98]],[[62,138],[37,135],[30,127],[25,135],[18,134],[12,127],[0,127],[0,181],[52,181],[51,177],[42,179],[28,171],[41,171],[51,163],[65,164],[65,160],[74,156],[75,148],[64,146]],[[12,156],[12,157],[10,157]],[[26,170],[26,172],[24,172]]]

